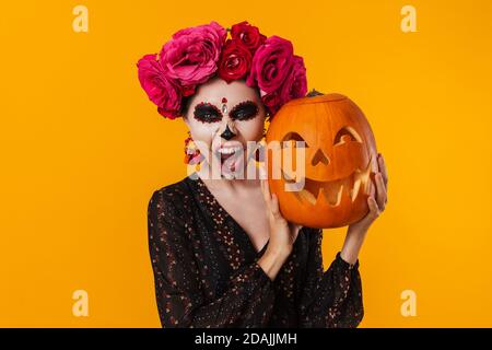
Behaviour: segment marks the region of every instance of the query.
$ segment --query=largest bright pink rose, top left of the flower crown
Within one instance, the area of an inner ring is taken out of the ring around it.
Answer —
[[[169,78],[179,81],[183,92],[192,94],[194,85],[207,81],[218,69],[227,32],[219,23],[176,32],[161,50],[161,65]]]

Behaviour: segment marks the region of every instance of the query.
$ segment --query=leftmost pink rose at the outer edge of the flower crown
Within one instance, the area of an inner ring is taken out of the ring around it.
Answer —
[[[140,85],[149,100],[157,105],[159,113],[174,119],[181,105],[179,86],[166,77],[156,58],[157,55],[145,55],[138,61]]]

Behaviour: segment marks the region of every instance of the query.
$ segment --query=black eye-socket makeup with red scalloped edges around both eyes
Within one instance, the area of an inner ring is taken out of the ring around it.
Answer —
[[[225,97],[222,98],[222,110],[209,102],[201,102],[196,105],[194,116],[201,122],[216,122],[222,120],[224,114],[227,114]],[[235,105],[229,113],[234,120],[250,120],[258,115],[259,107],[253,101],[244,101]]]

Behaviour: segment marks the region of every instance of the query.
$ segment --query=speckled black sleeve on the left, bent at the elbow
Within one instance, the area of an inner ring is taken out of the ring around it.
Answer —
[[[149,249],[163,327],[263,327],[270,318],[272,281],[255,260],[239,268],[225,292],[206,300],[191,248],[190,228],[173,200],[155,191],[149,201]]]

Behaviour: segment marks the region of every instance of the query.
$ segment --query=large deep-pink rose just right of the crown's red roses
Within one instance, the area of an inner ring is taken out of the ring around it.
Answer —
[[[251,71],[246,79],[248,86],[258,85],[272,93],[284,82],[293,63],[292,43],[279,36],[270,36],[258,47],[253,57]]]

